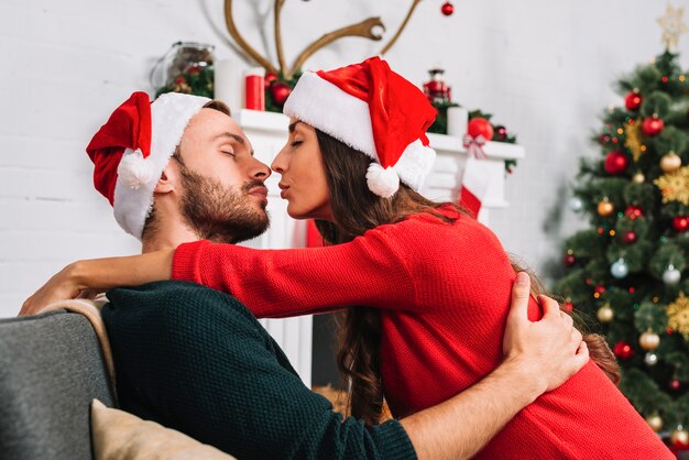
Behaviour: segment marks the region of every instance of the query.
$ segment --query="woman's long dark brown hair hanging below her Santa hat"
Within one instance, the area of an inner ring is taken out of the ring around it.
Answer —
[[[335,222],[317,220],[316,227],[331,244],[353,240],[367,230],[395,223],[417,212],[429,212],[446,222],[453,219],[436,211],[447,202],[431,201],[401,184],[393,198],[381,198],[367,186],[365,173],[371,160],[363,153],[316,130],[326,168],[330,206]],[[466,211],[451,204],[459,212]],[[524,271],[515,262],[515,271]],[[529,273],[531,274],[531,273]],[[532,275],[532,294],[545,293],[542,283]],[[376,425],[383,409],[383,385],[380,372],[381,316],[375,308],[352,306],[336,314],[339,350],[337,361],[350,387],[351,415],[368,425]],[[617,383],[620,368],[614,355],[599,335],[584,333],[591,359]]]

